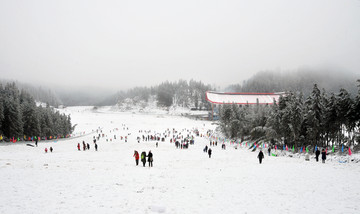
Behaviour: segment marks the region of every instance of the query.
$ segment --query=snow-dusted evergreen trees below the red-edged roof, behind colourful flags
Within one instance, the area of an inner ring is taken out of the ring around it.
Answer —
[[[326,93],[314,84],[306,98],[287,92],[272,105],[221,105],[220,129],[231,139],[302,146],[356,145],[360,142],[360,80],[357,95],[346,89]]]

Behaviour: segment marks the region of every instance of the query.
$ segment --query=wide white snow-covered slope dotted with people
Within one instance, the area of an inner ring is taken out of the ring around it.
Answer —
[[[38,147],[0,146],[1,214],[360,213],[359,164],[266,155],[260,165],[257,152],[232,145],[212,147],[210,159],[202,151],[206,138],[196,137],[189,149],[176,149],[169,138],[158,148],[156,141],[136,140],[144,134],[139,130],[198,128],[204,134],[215,128],[208,121],[91,107],[62,112],[71,113],[75,133],[85,135]],[[91,132],[98,127],[107,137],[95,151]],[[82,141],[90,150],[77,150]],[[54,152],[45,153],[50,146]],[[134,150],[151,150],[154,167],[136,166]]]

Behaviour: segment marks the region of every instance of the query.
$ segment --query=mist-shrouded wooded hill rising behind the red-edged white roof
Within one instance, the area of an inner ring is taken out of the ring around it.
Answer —
[[[301,69],[296,72],[261,71],[242,84],[228,86],[228,92],[302,92],[304,96],[311,93],[312,86],[317,84],[319,88],[328,93],[336,93],[341,88],[351,94],[356,94],[355,80],[359,76],[334,70]]]

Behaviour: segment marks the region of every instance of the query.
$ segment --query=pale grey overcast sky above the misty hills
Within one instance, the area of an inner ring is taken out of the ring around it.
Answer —
[[[304,66],[360,76],[359,0],[0,0],[1,78],[126,89]]]

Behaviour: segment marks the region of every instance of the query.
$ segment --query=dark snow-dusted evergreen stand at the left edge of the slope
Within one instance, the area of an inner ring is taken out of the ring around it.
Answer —
[[[0,135],[4,140],[63,137],[72,131],[70,115],[60,114],[49,104],[37,106],[34,98],[15,83],[0,84]]]

